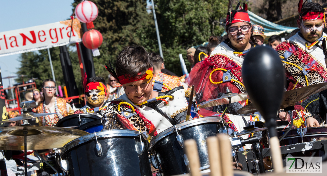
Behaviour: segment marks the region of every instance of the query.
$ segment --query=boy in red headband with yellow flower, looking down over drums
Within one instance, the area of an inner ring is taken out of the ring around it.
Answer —
[[[107,106],[101,118],[103,130],[132,129],[155,136],[185,120],[184,88],[161,92],[162,87],[154,85],[157,91],[152,90],[152,61],[144,47],[125,47],[117,58],[116,72],[108,71],[123,86],[125,94]]]

